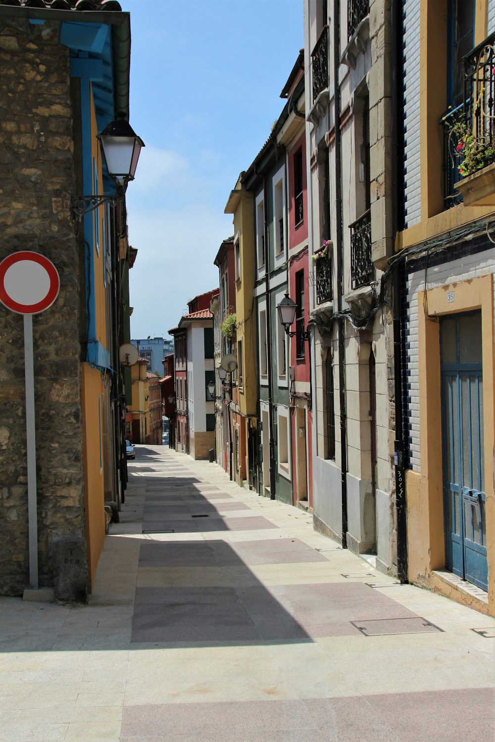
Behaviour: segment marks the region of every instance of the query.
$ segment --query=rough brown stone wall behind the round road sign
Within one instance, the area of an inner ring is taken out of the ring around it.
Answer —
[[[56,265],[59,298],[33,318],[39,583],[51,545],[84,535],[79,254],[68,208],[73,123],[59,23],[0,19],[0,260],[18,250]],[[29,582],[22,316],[0,305],[0,593]]]

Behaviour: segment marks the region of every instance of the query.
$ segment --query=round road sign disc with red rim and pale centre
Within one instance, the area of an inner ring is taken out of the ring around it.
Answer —
[[[0,301],[12,312],[44,312],[56,300],[59,289],[59,273],[45,255],[21,250],[0,263]]]

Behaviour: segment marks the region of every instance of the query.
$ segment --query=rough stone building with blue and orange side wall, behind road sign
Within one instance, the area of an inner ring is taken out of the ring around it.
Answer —
[[[111,213],[99,209],[96,217],[91,214],[91,222],[84,217],[75,229],[71,194],[84,192],[85,162],[91,157],[99,158],[93,192],[101,194],[108,187],[93,137],[102,126],[94,101],[99,97],[100,108],[102,102],[107,105],[103,116],[107,122],[115,117],[117,106],[128,114],[128,93],[120,97],[117,93],[117,82],[125,76],[128,80],[128,69],[119,80],[120,73],[115,73],[105,90],[99,75],[119,43],[122,50],[119,39],[130,36],[130,24],[128,14],[117,10],[118,3],[101,5],[101,10],[99,3],[93,4],[95,12],[67,5],[64,11],[50,4],[0,6],[0,260],[20,250],[38,252],[59,272],[58,298],[33,317],[39,586],[53,585],[54,540],[70,536],[85,539],[91,590],[105,536],[104,501],[114,499],[118,505],[122,483],[121,462],[112,447],[123,427],[119,413],[123,382],[109,370],[118,338],[108,305],[108,277],[104,279],[99,269],[106,259],[110,275],[110,266],[117,267],[119,247],[126,253],[128,246],[119,246],[116,240],[117,232],[122,232],[118,208]],[[117,12],[103,12],[103,7]],[[83,27],[94,36],[102,29],[107,42],[79,59]],[[94,73],[82,62],[88,56]],[[82,91],[88,92],[86,98]],[[90,103],[88,111],[82,111],[85,101]],[[90,151],[85,151],[88,134]],[[102,250],[88,260],[96,247],[95,230],[108,235],[106,255]],[[97,294],[94,303],[90,289]],[[97,352],[90,363],[91,341]],[[111,390],[117,398],[114,406]],[[98,419],[99,439],[90,436],[95,426],[98,430]],[[29,584],[26,435],[35,432],[26,433],[25,425],[23,319],[4,306],[0,306],[0,420],[0,593],[15,595]]]

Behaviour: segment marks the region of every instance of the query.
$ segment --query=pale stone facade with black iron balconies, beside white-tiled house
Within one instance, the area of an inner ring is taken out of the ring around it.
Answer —
[[[395,572],[390,3],[306,0],[304,36],[313,517]]]

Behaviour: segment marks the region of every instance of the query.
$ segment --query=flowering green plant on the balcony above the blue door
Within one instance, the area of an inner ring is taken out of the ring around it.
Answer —
[[[475,101],[471,120],[466,119],[463,111],[459,111],[459,114],[456,116],[453,115],[452,118],[444,116],[442,119],[448,129],[448,151],[450,158],[457,167],[459,175],[462,175],[462,177],[472,175],[487,165],[491,165],[492,162],[495,162],[495,143],[491,136],[490,125],[482,127],[482,134],[479,134],[479,136],[473,134],[471,127],[484,91],[485,88],[482,88]],[[482,109],[480,111],[482,116],[491,119],[491,116],[485,114]],[[453,155],[453,151],[455,151],[455,155]]]

